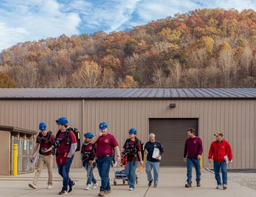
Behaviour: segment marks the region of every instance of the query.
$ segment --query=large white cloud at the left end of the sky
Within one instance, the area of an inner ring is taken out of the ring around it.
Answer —
[[[54,0],[4,1],[0,5],[0,50],[23,41],[79,34],[78,13],[61,11]]]

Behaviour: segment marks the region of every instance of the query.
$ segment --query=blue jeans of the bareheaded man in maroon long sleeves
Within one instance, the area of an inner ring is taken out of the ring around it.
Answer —
[[[190,159],[187,158],[187,182],[188,184],[192,183],[192,168],[195,166],[196,170],[196,182],[200,182],[201,180],[201,170],[200,170],[200,160],[199,159]]]

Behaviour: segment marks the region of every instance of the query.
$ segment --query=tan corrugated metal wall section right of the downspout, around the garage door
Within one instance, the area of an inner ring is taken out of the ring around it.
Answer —
[[[176,103],[171,109],[170,103]],[[99,122],[109,124],[120,145],[127,130],[137,128],[146,141],[149,118],[198,118],[199,135],[204,142],[205,167],[211,167],[207,155],[213,134],[221,131],[230,142],[234,162],[230,168],[256,168],[256,101],[253,100],[114,100],[85,101],[87,131],[97,130]],[[186,131],[184,131],[186,132]]]

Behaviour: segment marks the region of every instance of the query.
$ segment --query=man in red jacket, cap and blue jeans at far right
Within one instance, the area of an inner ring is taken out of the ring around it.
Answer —
[[[216,136],[216,141],[211,144],[208,159],[209,163],[213,159],[214,174],[217,181],[216,189],[221,188],[220,169],[223,189],[227,189],[227,164],[232,161],[232,150],[227,140],[224,140],[222,133],[215,133],[214,136]]]

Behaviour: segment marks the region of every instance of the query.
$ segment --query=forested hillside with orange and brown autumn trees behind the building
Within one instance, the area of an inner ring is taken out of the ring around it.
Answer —
[[[1,87],[255,87],[256,12],[177,13],[129,31],[27,41],[0,55]]]

